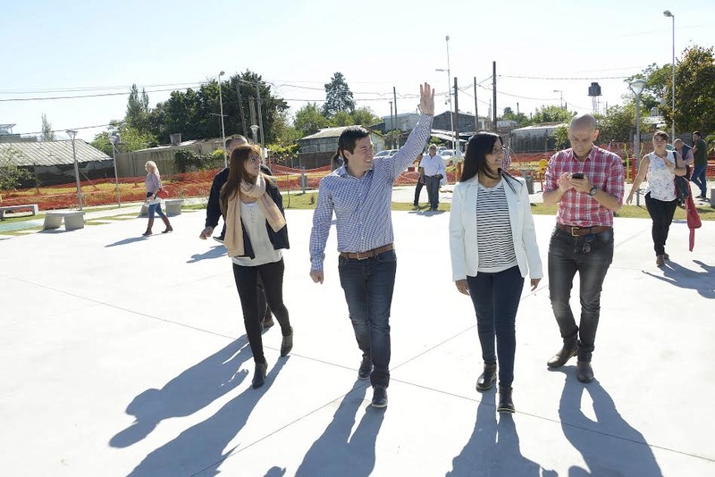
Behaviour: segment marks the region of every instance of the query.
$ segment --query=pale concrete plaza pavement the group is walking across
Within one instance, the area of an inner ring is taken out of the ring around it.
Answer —
[[[184,212],[150,238],[146,219],[130,219],[0,240],[0,474],[715,475],[715,222],[694,252],[674,223],[658,268],[651,222],[616,220],[591,384],[576,381],[575,360],[547,370],[560,346],[548,280],[525,287],[517,413],[500,416],[495,391],[475,391],[480,348],[451,281],[449,213],[393,213],[386,410],[357,381],[334,230],[315,285],[312,213],[287,211],[295,347],[280,358],[280,331],[265,331],[268,377],[251,389],[231,263],[198,239],[204,217]],[[535,222],[545,272],[554,218]]]

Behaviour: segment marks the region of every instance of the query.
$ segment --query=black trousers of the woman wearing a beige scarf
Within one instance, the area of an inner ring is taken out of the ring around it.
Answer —
[[[257,280],[260,277],[265,291],[265,300],[273,310],[275,319],[281,325],[282,335],[290,334],[290,320],[288,309],[283,304],[283,260],[273,264],[244,267],[233,264],[233,278],[236,280],[236,289],[239,290],[240,306],[243,309],[243,324],[246,326],[248,344],[256,363],[263,363],[263,338],[261,336],[261,322],[265,311],[258,309]]]

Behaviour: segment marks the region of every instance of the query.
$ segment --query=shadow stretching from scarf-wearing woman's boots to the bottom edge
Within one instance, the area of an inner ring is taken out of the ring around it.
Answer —
[[[243,352],[243,350],[241,350]],[[245,353],[250,355],[250,350]],[[137,465],[130,476],[175,477],[218,475],[221,463],[239,446],[226,449],[248,422],[248,416],[267,393],[290,356],[281,358],[265,377],[259,389],[250,386],[226,403],[216,414],[181,432],[175,439],[153,450]],[[270,365],[270,364],[269,364]],[[224,449],[225,452],[224,452]]]

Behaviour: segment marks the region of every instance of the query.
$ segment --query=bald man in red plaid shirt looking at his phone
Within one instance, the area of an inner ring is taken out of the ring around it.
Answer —
[[[551,156],[543,186],[544,205],[559,204],[549,243],[549,296],[564,341],[548,365],[558,368],[577,355],[576,378],[591,382],[601,288],[613,260],[613,212],[623,205],[623,164],[618,155],[593,146],[598,130],[591,114],[574,116],[568,138],[571,148]],[[568,303],[576,272],[578,325]]]

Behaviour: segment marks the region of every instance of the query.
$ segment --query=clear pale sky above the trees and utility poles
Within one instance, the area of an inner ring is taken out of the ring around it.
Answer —
[[[277,85],[293,112],[306,100],[324,100],[323,85],[335,71],[345,75],[357,105],[378,115],[390,113],[393,86],[398,111],[415,111],[409,96],[425,80],[442,95],[441,112],[448,79],[435,69],[447,67],[446,35],[460,88],[489,78],[497,62],[500,113],[516,110],[517,102],[524,113],[557,105],[561,93],[554,90],[563,91],[569,109],[588,112],[592,80],[601,85],[601,101],[614,105],[627,85],[607,78],[670,63],[666,9],[676,15],[677,54],[713,44],[715,2],[703,0],[3,2],[0,100],[124,94],[0,101],[0,123],[36,132],[46,113],[55,130],[104,125],[123,118],[132,83],[147,88],[156,105],[169,92],[155,90],[174,87],[155,85],[186,88],[222,70],[246,69]],[[482,86],[491,88],[491,79]],[[460,111],[474,112],[473,93],[460,94]],[[484,115],[492,93],[480,87],[477,96]],[[91,140],[101,130],[80,130],[79,137]]]

